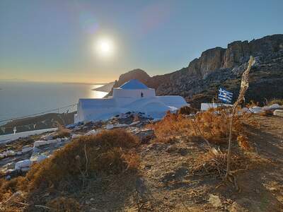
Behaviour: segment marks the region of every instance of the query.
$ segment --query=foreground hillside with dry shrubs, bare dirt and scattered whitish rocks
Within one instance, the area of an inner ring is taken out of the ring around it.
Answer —
[[[226,115],[121,114],[0,145],[0,211],[282,211],[282,117],[237,117],[224,180]]]

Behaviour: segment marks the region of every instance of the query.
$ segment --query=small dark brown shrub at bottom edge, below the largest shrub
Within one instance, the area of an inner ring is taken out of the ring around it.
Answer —
[[[52,199],[47,203],[47,206],[50,208],[54,208],[56,211],[66,211],[66,212],[76,212],[81,211],[80,204],[76,199],[67,198],[64,196],[57,197]]]

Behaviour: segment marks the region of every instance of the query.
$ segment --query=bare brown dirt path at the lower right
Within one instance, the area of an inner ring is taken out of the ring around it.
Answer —
[[[283,119],[254,117],[260,129],[248,129],[255,152],[251,166],[233,184],[215,188],[221,179],[196,177],[190,162],[203,154],[201,140],[176,138],[171,143],[142,146],[142,176],[137,184],[140,211],[283,211]],[[264,165],[259,165],[261,160]],[[209,195],[221,204],[209,203]]]

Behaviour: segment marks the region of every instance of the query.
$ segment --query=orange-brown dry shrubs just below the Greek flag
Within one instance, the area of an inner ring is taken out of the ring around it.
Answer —
[[[161,122],[151,124],[158,139],[166,141],[173,136],[202,136],[209,143],[227,143],[231,108],[216,108],[200,112],[195,117],[168,112]],[[252,124],[248,114],[236,115],[233,122],[233,139],[245,134],[244,123]]]

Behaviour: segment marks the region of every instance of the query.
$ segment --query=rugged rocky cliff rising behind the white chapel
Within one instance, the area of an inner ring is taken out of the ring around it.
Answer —
[[[250,55],[256,62],[250,71],[246,101],[283,98],[283,35],[270,35],[250,42],[235,41],[226,49],[208,49],[187,67],[161,76],[150,77],[145,71],[135,69],[122,74],[114,87],[137,78],[156,88],[158,95],[182,95],[192,105],[200,107],[200,102],[211,102],[219,86],[231,90],[236,98],[241,73]]]

